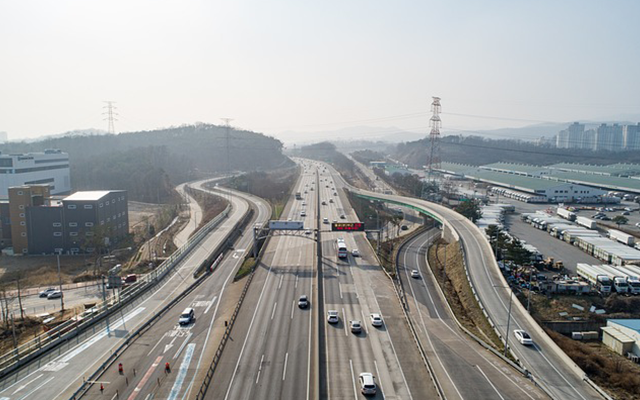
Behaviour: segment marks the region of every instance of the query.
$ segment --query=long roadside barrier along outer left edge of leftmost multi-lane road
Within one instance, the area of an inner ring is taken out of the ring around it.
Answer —
[[[171,256],[169,256],[169,258],[160,264],[155,270],[142,277],[135,284],[123,288],[117,299],[100,302],[82,319],[66,321],[0,356],[0,378],[53,349],[59,344],[77,336],[88,327],[104,319],[107,315],[110,315],[127,305],[156,283],[162,281],[175,266],[180,264],[185,255],[189,253],[193,247],[195,247],[229,215],[230,210],[231,205],[228,205],[224,211],[218,214],[195,235],[189,238],[183,246],[173,252]]]

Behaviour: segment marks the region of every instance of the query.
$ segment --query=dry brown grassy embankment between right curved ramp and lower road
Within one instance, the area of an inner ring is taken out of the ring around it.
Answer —
[[[429,248],[428,260],[436,281],[442,288],[458,321],[474,335],[492,344],[497,350],[504,350],[502,341],[473,296],[458,243],[446,243],[442,239],[438,240]]]

